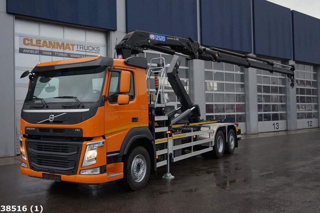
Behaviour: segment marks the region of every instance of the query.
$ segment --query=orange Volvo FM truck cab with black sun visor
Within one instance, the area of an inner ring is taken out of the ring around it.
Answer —
[[[39,63],[25,73],[30,83],[21,110],[22,174],[89,184],[123,178],[130,134],[148,141],[144,146],[154,153],[146,67],[128,61],[69,59]]]

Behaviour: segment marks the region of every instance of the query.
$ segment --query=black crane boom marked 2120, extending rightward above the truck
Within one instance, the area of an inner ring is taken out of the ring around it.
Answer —
[[[226,62],[246,68],[252,67],[277,72],[289,77],[291,86],[294,86],[294,65],[279,65],[275,62],[248,54],[240,54],[215,47],[206,48],[191,38],[179,38],[168,35],[159,35],[144,31],[129,32],[120,43],[116,45],[116,52],[128,58],[133,54],[142,53],[144,50],[155,50],[170,55],[179,55],[187,59],[201,59],[207,61]],[[283,68],[286,67],[286,68]]]

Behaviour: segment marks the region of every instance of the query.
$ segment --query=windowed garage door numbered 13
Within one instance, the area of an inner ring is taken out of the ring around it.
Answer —
[[[286,81],[284,74],[257,70],[259,132],[287,130]]]

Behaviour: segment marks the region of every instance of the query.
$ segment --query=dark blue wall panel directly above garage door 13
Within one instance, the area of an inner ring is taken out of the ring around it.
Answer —
[[[292,26],[289,8],[253,0],[254,53],[292,59]]]

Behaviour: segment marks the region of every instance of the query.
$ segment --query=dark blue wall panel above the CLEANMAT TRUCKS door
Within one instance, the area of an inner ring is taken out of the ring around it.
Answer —
[[[7,0],[7,12],[116,30],[116,0]]]

